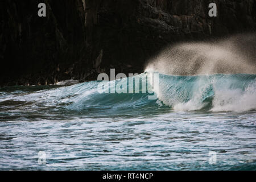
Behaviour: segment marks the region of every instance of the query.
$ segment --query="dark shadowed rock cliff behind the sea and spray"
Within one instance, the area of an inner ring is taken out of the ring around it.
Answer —
[[[47,16],[38,16],[46,3]],[[217,4],[217,17],[208,5]],[[139,73],[168,44],[255,32],[254,0],[2,0],[0,85]]]

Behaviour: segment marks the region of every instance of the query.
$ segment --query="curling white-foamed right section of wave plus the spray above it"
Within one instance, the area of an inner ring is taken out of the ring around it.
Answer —
[[[148,61],[159,72],[158,98],[174,110],[256,109],[256,34],[180,43]]]

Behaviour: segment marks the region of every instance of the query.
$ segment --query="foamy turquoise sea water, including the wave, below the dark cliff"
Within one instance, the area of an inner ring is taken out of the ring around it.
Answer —
[[[156,100],[98,84],[1,88],[0,169],[256,169],[256,75],[160,74]]]

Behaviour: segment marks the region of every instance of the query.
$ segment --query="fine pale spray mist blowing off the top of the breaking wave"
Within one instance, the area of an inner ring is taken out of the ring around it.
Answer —
[[[218,42],[180,43],[153,57],[145,70],[168,75],[256,74],[255,50],[256,34]]]

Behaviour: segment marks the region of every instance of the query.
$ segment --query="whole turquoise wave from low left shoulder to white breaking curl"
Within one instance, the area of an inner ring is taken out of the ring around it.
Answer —
[[[135,84],[142,85],[148,73],[142,73],[134,78],[140,78]],[[131,78],[131,77],[130,77]],[[129,79],[109,81],[111,86],[126,84],[129,90]],[[135,79],[134,79],[135,80]],[[26,87],[23,91],[5,93],[1,92],[0,102],[15,101],[18,104],[35,103],[39,108],[42,105],[52,106],[61,111],[70,111],[81,114],[115,115],[136,113],[149,114],[166,111],[233,111],[243,112],[256,110],[256,75],[208,75],[208,76],[171,76],[159,73],[159,89],[155,90],[156,100],[148,100],[154,88],[151,85],[150,93],[99,93],[98,81],[84,82],[81,84],[64,86],[55,89],[36,90],[36,86]],[[56,87],[56,86],[55,86]],[[24,93],[23,93],[24,92]],[[28,93],[27,93],[28,92]],[[10,108],[16,105],[11,105]],[[19,105],[20,106],[20,105]],[[31,107],[35,108],[35,106]],[[139,110],[139,111],[138,111]],[[32,110],[31,110],[32,111]],[[100,112],[99,112],[100,111]],[[77,114],[76,113],[76,114]]]

